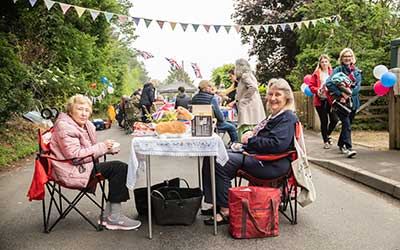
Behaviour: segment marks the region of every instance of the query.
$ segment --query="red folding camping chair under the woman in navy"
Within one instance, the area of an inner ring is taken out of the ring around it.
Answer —
[[[296,138],[300,137],[300,127],[301,123],[296,123]],[[258,160],[263,161],[275,161],[287,156],[291,156],[294,161],[297,159],[296,150],[292,150],[279,155],[249,155],[243,154],[243,161],[245,157],[254,157]],[[235,186],[240,186],[242,178],[248,181],[248,185],[250,186],[262,186],[262,187],[272,187],[272,188],[280,188],[281,190],[281,204],[279,206],[279,212],[286,218],[288,221],[294,225],[297,224],[297,194],[298,194],[298,185],[296,179],[294,178],[293,171],[291,166],[289,167],[289,171],[280,177],[275,179],[260,179],[252,176],[246,171],[239,169],[236,172],[236,177],[239,178],[239,181],[235,178]],[[287,208],[289,207],[289,211]]]

